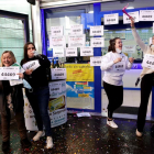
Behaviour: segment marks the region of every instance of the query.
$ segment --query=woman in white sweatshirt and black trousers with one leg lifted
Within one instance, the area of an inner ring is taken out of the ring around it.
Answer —
[[[125,69],[132,67],[133,58],[122,53],[122,41],[119,37],[110,40],[108,52],[101,62],[101,70],[105,70],[103,88],[109,99],[107,124],[118,128],[112,119],[113,111],[123,102],[122,77]]]

